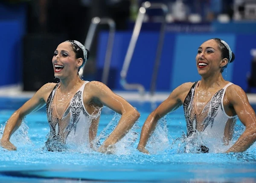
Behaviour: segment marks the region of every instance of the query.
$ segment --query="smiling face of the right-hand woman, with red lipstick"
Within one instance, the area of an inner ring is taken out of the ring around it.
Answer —
[[[227,64],[226,61],[221,58],[221,50],[218,43],[213,39],[210,39],[199,46],[195,60],[198,73],[201,76],[219,74],[221,72],[221,67]]]

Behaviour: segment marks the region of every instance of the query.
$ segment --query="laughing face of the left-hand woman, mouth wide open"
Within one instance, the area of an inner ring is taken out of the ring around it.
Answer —
[[[80,58],[80,60],[82,59]],[[76,58],[70,42],[59,44],[52,57],[54,76],[59,79],[73,75],[77,76],[80,62],[79,58]]]

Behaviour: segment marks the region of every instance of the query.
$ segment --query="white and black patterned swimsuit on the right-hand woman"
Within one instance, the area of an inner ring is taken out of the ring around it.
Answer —
[[[194,133],[198,134],[198,129],[200,129],[202,137],[207,138],[208,141],[212,140],[212,145],[217,142],[224,143],[224,138],[226,138],[224,137],[224,130],[227,122],[229,120],[231,123],[236,122],[237,119],[237,116],[228,116],[223,105],[225,91],[231,84],[233,83],[229,83],[218,90],[201,111],[197,110],[195,99],[198,81],[193,84],[183,104],[188,137],[193,136]]]

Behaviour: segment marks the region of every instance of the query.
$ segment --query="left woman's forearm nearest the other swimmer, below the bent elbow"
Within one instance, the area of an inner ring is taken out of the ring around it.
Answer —
[[[139,119],[139,117],[140,113],[138,111],[122,114],[119,123],[110,136],[105,140],[104,145],[112,145],[122,139],[122,137],[124,137],[131,129],[137,119]]]

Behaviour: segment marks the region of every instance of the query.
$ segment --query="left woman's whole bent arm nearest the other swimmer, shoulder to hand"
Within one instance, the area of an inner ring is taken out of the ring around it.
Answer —
[[[99,148],[100,152],[105,152],[109,145],[115,144],[127,134],[140,117],[140,113],[125,99],[113,93],[109,87],[99,81],[91,81],[86,87],[87,92],[91,93],[90,97],[92,99],[98,99],[103,105],[111,108],[116,113],[122,114],[116,128]]]

